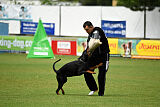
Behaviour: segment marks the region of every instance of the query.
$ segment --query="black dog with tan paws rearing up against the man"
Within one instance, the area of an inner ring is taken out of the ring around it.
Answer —
[[[64,90],[62,89],[64,83],[67,82],[67,77],[72,77],[72,76],[79,76],[84,73],[92,73],[95,74],[94,69],[102,66],[102,63],[99,65],[96,65],[94,67],[88,67],[87,62],[83,62],[82,60],[76,60],[69,62],[62,66],[59,70],[55,69],[55,64],[59,62],[61,59],[57,60],[56,62],[53,63],[53,70],[56,72],[57,76],[57,81],[58,81],[58,88],[56,90],[57,95],[59,95],[59,90],[62,90],[62,94],[64,94]]]

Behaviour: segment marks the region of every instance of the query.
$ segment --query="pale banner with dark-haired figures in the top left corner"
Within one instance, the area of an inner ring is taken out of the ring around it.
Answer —
[[[31,6],[0,4],[0,20],[32,21]]]

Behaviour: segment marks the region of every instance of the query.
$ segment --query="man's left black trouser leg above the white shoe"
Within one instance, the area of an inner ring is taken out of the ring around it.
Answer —
[[[94,77],[93,77],[92,74],[85,73],[85,74],[84,74],[84,78],[85,78],[85,81],[86,81],[86,83],[87,83],[88,88],[89,88],[91,91],[96,91],[96,90],[98,90],[96,81],[95,81],[95,79],[94,79]]]

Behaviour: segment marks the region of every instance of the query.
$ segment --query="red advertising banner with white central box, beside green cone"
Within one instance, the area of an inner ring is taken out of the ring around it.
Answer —
[[[52,40],[52,50],[57,55],[76,55],[76,41]]]

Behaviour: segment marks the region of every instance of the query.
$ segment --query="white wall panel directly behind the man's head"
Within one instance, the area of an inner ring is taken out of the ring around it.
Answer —
[[[61,35],[87,36],[83,29],[85,21],[101,26],[101,7],[62,7],[61,8]]]

